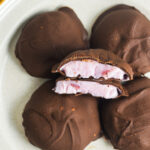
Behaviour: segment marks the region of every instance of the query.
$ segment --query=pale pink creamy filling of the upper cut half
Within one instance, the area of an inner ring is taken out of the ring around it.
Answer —
[[[70,61],[64,64],[60,71],[64,72],[67,77],[79,77],[99,79],[120,79],[122,81],[128,81],[129,76],[122,69],[108,65],[98,63],[97,61],[86,59],[84,61]]]

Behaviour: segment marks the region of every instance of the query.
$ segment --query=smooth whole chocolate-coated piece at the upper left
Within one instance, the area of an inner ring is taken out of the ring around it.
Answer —
[[[62,7],[30,20],[22,30],[16,56],[26,71],[36,77],[52,77],[51,67],[70,52],[87,49],[87,31],[74,11]]]

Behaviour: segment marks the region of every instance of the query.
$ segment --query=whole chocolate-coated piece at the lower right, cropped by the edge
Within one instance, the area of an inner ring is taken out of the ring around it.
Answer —
[[[119,150],[150,149],[150,79],[138,78],[124,85],[130,96],[104,103],[104,133]]]

